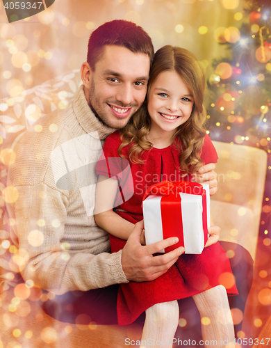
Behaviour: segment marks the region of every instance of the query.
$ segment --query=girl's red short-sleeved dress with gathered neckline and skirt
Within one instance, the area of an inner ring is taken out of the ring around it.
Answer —
[[[141,157],[145,159],[145,163],[133,164],[119,156],[120,144],[118,131],[108,136],[97,162],[96,172],[98,175],[119,180],[119,191],[114,206],[123,211],[116,213],[131,223],[137,223],[143,219],[141,203],[149,186],[163,180],[176,182],[182,179],[183,172],[178,168],[179,150],[176,144],[163,149],[145,150]],[[128,149],[126,146],[122,153],[126,155]],[[217,153],[208,136],[204,139],[201,158],[204,164],[217,162]],[[190,181],[191,178],[191,175],[188,175],[183,180]],[[109,237],[113,253],[124,247],[126,241],[112,235]],[[177,262],[156,280],[120,284],[117,298],[118,322],[120,325],[131,324],[156,303],[183,299],[220,285],[224,278],[222,274],[227,277],[232,275],[232,272],[229,259],[219,243],[204,248],[199,255],[181,255]],[[227,288],[227,293],[238,294],[235,283]]]

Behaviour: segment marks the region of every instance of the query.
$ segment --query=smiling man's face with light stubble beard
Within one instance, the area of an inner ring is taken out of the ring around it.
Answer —
[[[106,46],[90,71],[89,103],[109,127],[123,128],[147,93],[149,56],[120,46]]]

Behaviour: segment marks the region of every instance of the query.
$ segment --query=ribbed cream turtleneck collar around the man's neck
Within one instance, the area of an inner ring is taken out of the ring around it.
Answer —
[[[87,100],[85,99],[83,84],[80,86],[79,91],[74,98],[74,101],[72,102],[72,107],[81,127],[88,134],[98,132],[99,139],[104,140],[109,134],[115,131],[114,128],[108,127],[101,121],[99,121],[95,114],[92,112]]]

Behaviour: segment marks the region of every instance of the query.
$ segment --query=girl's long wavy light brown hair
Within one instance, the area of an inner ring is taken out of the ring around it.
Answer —
[[[151,85],[161,72],[176,71],[183,82],[188,86],[194,99],[192,113],[190,118],[178,128],[173,136],[179,138],[179,164],[181,170],[186,173],[195,173],[202,166],[200,158],[204,136],[204,121],[206,120],[206,110],[204,108],[204,90],[206,81],[202,65],[194,54],[181,47],[172,47],[170,45],[158,49],[154,55],[154,63],[151,66],[147,96],[140,109],[129,120],[126,127],[121,131],[122,144],[119,148],[121,157],[124,146],[130,145],[129,159],[132,163],[144,163],[140,158],[143,150],[149,150],[152,145],[145,140],[151,128],[151,118],[147,110],[147,97]]]

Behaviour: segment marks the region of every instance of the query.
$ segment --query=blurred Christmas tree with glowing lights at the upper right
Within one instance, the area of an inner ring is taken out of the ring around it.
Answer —
[[[229,54],[213,61],[208,77],[210,136],[263,148],[270,161],[271,1],[247,1],[243,24],[222,31],[218,41]]]

